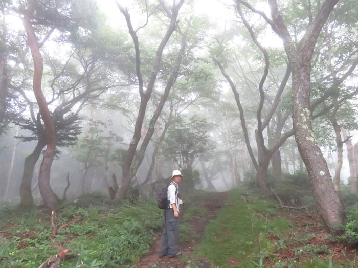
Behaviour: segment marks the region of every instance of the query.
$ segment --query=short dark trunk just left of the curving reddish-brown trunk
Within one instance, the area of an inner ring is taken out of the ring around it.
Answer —
[[[40,157],[42,149],[46,146],[44,139],[39,139],[34,151],[25,158],[23,178],[20,186],[20,205],[23,207],[33,206],[31,182],[34,173],[34,167]]]

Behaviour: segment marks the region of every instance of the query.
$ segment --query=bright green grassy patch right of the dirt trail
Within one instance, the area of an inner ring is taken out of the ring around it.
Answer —
[[[219,267],[230,262],[237,267],[260,266],[274,251],[266,235],[290,230],[292,225],[286,219],[273,218],[274,214],[273,202],[231,192],[218,217],[207,225],[197,253]]]

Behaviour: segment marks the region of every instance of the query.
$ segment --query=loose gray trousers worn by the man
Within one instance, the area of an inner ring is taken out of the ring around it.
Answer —
[[[165,209],[164,219],[164,230],[159,247],[159,256],[168,255],[172,257],[178,252],[179,219],[174,217],[173,209]]]

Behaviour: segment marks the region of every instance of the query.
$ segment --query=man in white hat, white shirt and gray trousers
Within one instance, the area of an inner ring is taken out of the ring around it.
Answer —
[[[183,204],[178,184],[182,178],[182,173],[179,170],[174,170],[171,176],[172,181],[168,185],[168,207],[164,210],[164,231],[159,247],[159,257],[167,255],[173,258],[181,255],[177,243],[179,240],[179,205]]]

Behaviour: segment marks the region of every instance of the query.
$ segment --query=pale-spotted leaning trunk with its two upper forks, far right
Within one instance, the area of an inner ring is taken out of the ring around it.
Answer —
[[[272,29],[282,38],[286,54],[293,70],[293,126],[301,157],[307,167],[314,196],[325,224],[339,228],[344,221],[344,209],[334,190],[327,163],[314,138],[309,107],[311,58],[320,31],[338,0],[326,0],[300,42],[299,50],[279,12],[276,0],[269,0]],[[267,18],[265,18],[267,20]]]

